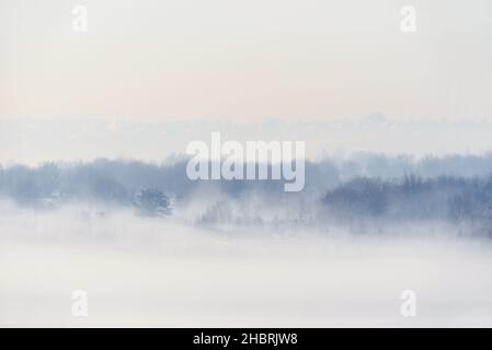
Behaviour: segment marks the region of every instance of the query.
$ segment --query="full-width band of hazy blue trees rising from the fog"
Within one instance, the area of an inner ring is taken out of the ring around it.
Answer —
[[[492,233],[492,155],[356,154],[307,162],[300,192],[285,192],[284,180],[194,182],[185,167],[185,159],[0,166],[0,198],[37,209],[101,202],[140,217],[179,214],[195,224],[446,222]]]

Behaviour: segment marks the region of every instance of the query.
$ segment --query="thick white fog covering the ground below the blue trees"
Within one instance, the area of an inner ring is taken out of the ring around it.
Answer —
[[[357,235],[94,203],[1,212],[1,326],[492,326],[490,242],[444,223]],[[76,290],[88,317],[71,314]],[[415,317],[400,313],[403,290]]]

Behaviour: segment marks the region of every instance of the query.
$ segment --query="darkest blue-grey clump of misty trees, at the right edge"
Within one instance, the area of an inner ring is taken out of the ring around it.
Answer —
[[[492,177],[422,178],[410,175],[381,180],[361,177],[329,190],[322,198],[327,215],[351,221],[461,221],[492,223]]]

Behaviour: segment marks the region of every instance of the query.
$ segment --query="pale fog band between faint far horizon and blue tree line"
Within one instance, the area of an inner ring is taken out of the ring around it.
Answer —
[[[311,161],[325,155],[346,156],[357,152],[393,156],[412,154],[417,158],[428,154],[478,156],[492,149],[492,122],[487,118],[474,121],[432,121],[428,118],[404,121],[374,114],[366,118],[339,117],[330,121],[310,121],[302,116],[291,122],[283,119],[254,122],[250,118],[249,121],[240,121],[230,116],[224,121],[176,119],[146,122],[140,117],[138,121],[125,120],[119,116],[99,121],[87,118],[71,120],[68,116],[54,120],[1,120],[0,162],[34,166],[44,161],[90,162],[107,158],[159,163],[184,152],[192,140],[210,140],[210,132],[217,130],[224,140],[241,143],[251,140],[305,140],[306,156]],[[400,163],[404,161],[402,159]],[[436,167],[433,170],[436,171]],[[467,172],[466,167],[460,170]],[[379,173],[384,174],[382,170]]]

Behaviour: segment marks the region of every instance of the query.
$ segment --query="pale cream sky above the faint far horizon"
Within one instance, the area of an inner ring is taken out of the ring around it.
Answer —
[[[491,43],[490,0],[0,0],[0,118],[492,120]]]

